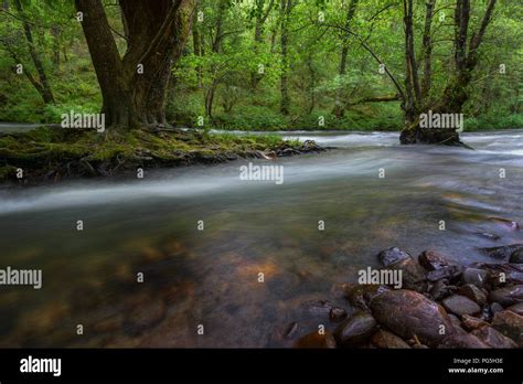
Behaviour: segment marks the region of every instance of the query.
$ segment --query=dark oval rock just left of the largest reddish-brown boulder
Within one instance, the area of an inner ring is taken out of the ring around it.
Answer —
[[[337,328],[334,337],[340,345],[354,346],[369,339],[376,326],[376,320],[370,313],[354,312]]]

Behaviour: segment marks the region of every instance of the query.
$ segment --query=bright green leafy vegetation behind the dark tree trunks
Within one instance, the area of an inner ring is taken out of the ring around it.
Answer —
[[[124,55],[121,10],[109,1],[102,3]],[[181,3],[193,11],[193,24],[172,67],[166,97],[168,122],[198,127],[203,119],[204,128],[269,131],[404,128],[398,89],[384,72],[389,71],[402,87],[408,81],[401,1]],[[88,32],[82,29],[88,25],[76,19],[78,7],[88,6],[72,0],[3,2],[0,121],[60,124],[63,113],[99,110],[96,61],[93,66],[84,38]],[[412,7],[412,52],[424,88],[423,105],[416,109],[423,111],[437,107],[452,84],[452,66],[459,67],[458,61],[453,63],[456,0],[414,1]],[[488,7],[487,1],[470,1],[470,42]],[[478,64],[471,65],[472,79],[462,83],[469,95],[459,108],[466,130],[522,127],[522,9],[517,1],[498,1],[493,8],[481,45],[473,52]],[[141,35],[147,45],[146,38]],[[19,64],[22,73],[17,72]]]

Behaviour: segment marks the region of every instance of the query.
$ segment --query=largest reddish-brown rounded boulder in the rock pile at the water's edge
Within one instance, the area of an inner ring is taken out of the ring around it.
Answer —
[[[427,345],[437,345],[445,338],[441,326],[447,334],[453,332],[445,309],[415,291],[389,290],[374,298],[371,309],[380,324],[404,339],[417,335]]]

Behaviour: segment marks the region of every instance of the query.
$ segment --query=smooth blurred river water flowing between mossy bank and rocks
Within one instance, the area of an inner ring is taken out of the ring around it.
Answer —
[[[40,290],[0,288],[0,346],[284,345],[286,324],[322,321],[305,301],[346,307],[337,285],[383,248],[469,264],[488,260],[477,247],[523,242],[489,218],[523,222],[522,130],[466,134],[477,150],[295,137],[337,149],[255,161],[284,166],[279,185],[241,180],[242,160],[0,190],[0,268],[43,271]]]

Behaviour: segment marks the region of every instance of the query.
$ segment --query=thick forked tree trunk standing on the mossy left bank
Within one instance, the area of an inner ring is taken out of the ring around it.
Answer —
[[[100,0],[75,0],[110,127],[164,125],[171,68],[191,31],[196,0],[120,0],[120,56]]]

